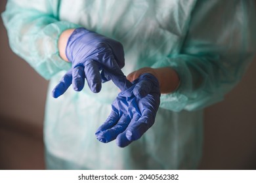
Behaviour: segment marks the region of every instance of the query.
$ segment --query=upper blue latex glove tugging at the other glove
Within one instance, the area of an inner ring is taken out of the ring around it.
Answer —
[[[120,42],[85,28],[77,28],[68,39],[66,56],[72,62],[72,69],[54,88],[55,98],[66,92],[71,84],[75,91],[81,91],[85,78],[94,93],[100,92],[101,82],[110,79],[120,90],[126,90],[131,86],[121,71],[125,59]]]

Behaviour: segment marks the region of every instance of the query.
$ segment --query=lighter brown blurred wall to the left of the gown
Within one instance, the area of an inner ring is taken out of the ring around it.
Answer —
[[[0,1],[0,12],[5,4],[6,0]],[[43,110],[47,81],[12,53],[1,18],[0,61],[0,169],[45,169]]]

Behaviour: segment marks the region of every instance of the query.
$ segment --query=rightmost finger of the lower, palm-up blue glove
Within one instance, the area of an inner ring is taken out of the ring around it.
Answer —
[[[142,135],[152,127],[154,124],[155,116],[154,114],[146,109],[142,112],[142,116],[139,119],[135,119],[125,133],[129,141],[136,141],[142,137]]]

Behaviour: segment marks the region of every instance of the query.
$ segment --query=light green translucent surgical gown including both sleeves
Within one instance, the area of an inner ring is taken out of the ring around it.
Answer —
[[[50,80],[45,108],[47,169],[197,169],[203,108],[223,100],[256,52],[255,1],[249,0],[10,0],[2,14],[10,46]],[[128,75],[142,67],[173,67],[179,89],[162,94],[155,124],[125,148],[96,140],[119,92],[72,87],[51,91],[70,63],[57,48],[65,29],[85,27],[116,39]]]

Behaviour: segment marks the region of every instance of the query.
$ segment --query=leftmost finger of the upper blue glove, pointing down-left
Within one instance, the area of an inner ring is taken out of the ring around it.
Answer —
[[[72,84],[72,69],[70,69],[60,80],[60,82],[53,89],[52,95],[54,98],[58,98],[60,95],[68,90],[68,87]]]

